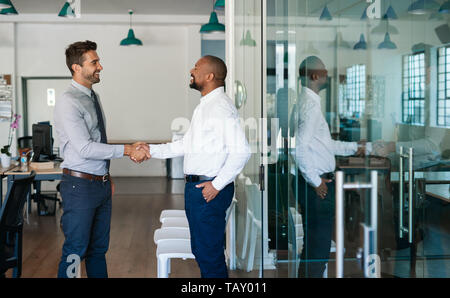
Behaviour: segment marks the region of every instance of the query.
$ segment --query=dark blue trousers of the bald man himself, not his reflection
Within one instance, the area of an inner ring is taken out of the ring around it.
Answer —
[[[191,233],[191,249],[203,278],[227,278],[225,263],[225,214],[234,194],[228,184],[209,203],[203,198],[200,182],[186,183],[184,202]]]

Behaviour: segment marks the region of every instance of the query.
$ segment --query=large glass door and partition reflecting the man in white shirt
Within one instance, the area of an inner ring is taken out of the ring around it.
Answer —
[[[450,29],[419,2],[266,1],[279,276],[449,276]]]

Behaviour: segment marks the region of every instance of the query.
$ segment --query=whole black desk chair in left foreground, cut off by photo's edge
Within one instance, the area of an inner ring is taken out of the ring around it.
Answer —
[[[36,173],[15,180],[0,214],[0,277],[13,268],[13,277],[22,274],[22,228],[24,205]]]

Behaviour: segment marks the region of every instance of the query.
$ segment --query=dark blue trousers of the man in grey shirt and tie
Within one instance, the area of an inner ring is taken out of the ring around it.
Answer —
[[[85,259],[88,277],[108,277],[105,254],[111,224],[111,183],[64,174],[60,192],[65,241],[58,277],[68,277],[68,267],[69,274],[73,272],[74,255]]]

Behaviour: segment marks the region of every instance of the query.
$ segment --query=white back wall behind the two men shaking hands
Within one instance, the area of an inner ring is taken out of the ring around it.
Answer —
[[[199,25],[134,24],[136,37],[144,45],[121,47],[119,43],[129,29],[126,22],[35,23],[29,18],[17,24],[16,77],[70,76],[65,48],[75,41],[95,41],[104,70],[94,89],[105,110],[109,140],[170,141],[172,120],[191,118],[200,98],[198,92],[189,89],[189,70],[201,54]],[[0,24],[0,53],[11,52],[6,55],[7,65],[1,60],[5,55],[0,55],[2,73],[14,69],[14,59],[9,58],[14,57],[14,48],[5,49],[3,43],[5,34],[6,41],[14,38],[12,28],[12,24]],[[20,79],[17,83],[21,110]],[[0,129],[3,136],[4,129]],[[165,161],[151,160],[137,166],[127,158],[114,160],[111,172],[116,176],[161,176],[166,174]]]

